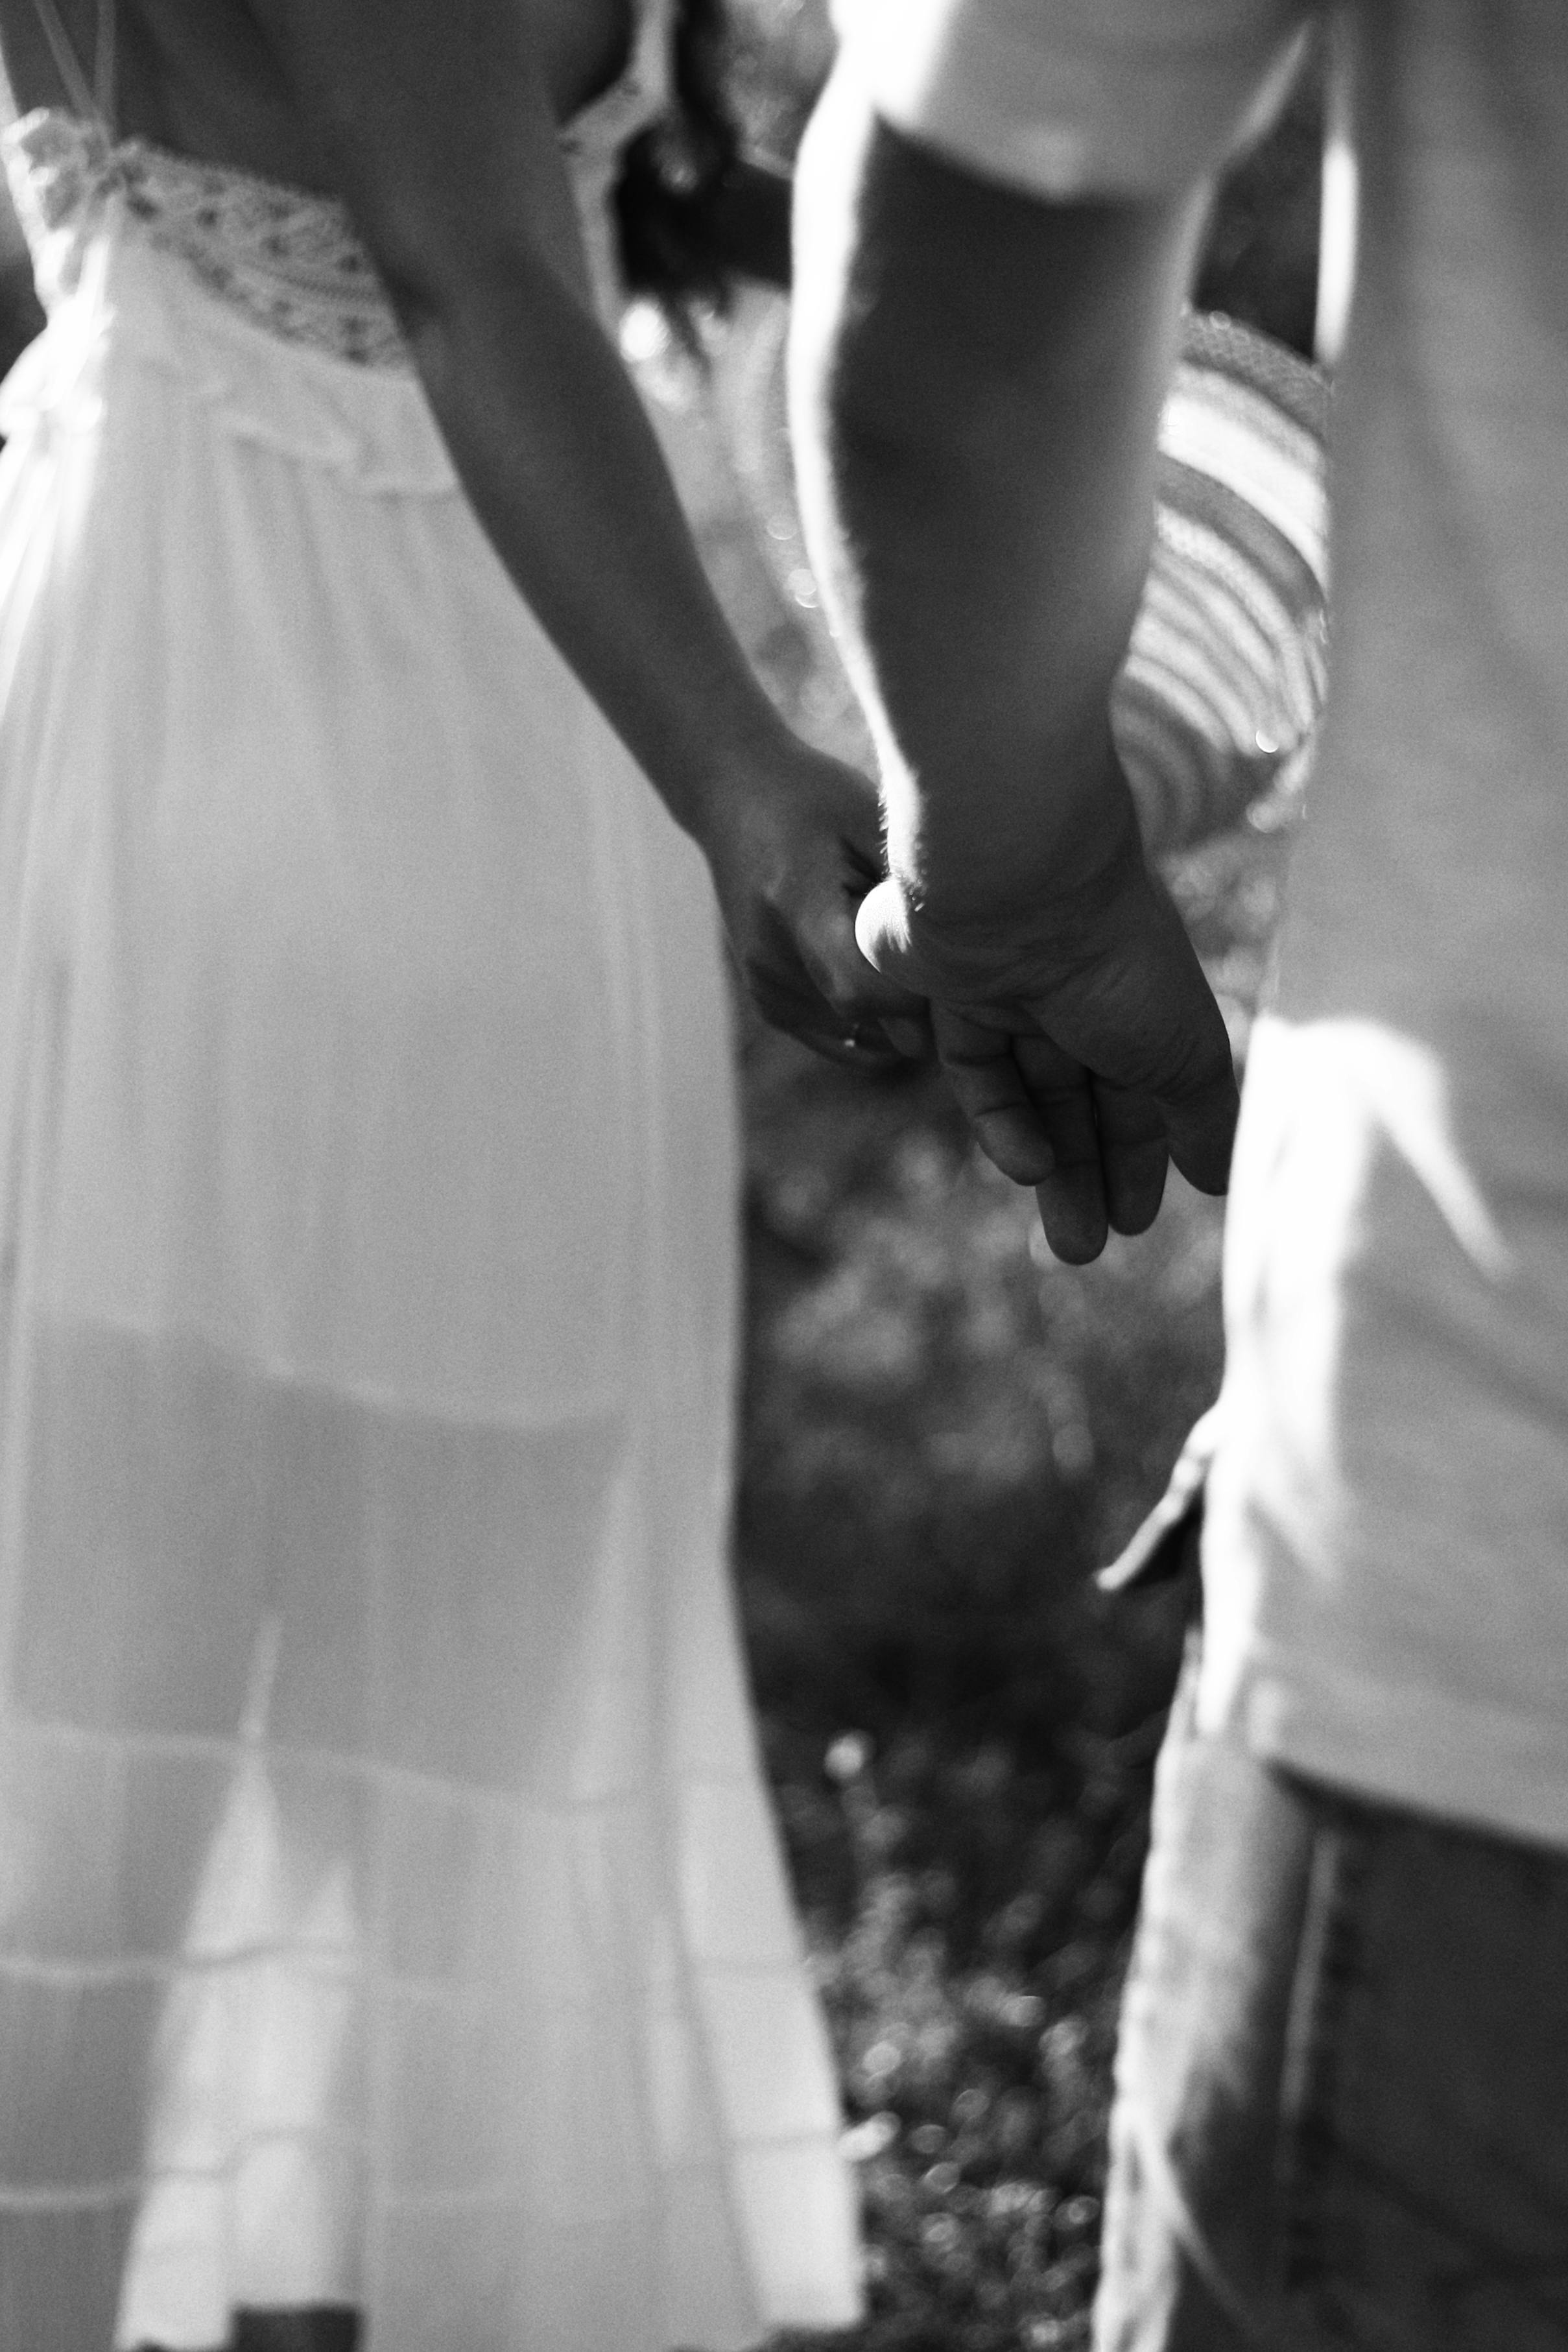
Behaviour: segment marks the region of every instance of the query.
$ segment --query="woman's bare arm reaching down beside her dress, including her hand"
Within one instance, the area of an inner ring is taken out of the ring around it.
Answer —
[[[731,637],[588,296],[527,0],[254,0],[543,628],[705,849],[764,1011],[832,1044],[914,1000],[853,946],[867,783],[790,736]]]

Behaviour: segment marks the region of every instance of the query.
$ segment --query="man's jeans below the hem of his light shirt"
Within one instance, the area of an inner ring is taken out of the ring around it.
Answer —
[[[1568,2352],[1568,1856],[1161,1755],[1095,2352]]]

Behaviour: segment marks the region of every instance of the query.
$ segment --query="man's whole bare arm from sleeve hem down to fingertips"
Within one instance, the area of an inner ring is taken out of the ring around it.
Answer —
[[[1204,195],[997,186],[844,68],[797,172],[802,501],[884,769],[891,882],[860,938],[943,1007],[980,1141],[1070,1258],[1152,1221],[1166,1148],[1222,1190],[1234,1129],[1107,715]]]

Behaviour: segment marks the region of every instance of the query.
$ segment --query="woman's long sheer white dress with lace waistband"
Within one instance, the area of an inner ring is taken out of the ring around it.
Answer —
[[[339,207],[7,146],[0,2352],[842,2324],[703,863]]]

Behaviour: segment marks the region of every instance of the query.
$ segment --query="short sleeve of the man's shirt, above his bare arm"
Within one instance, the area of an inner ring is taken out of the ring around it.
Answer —
[[[1213,172],[1288,80],[1314,0],[837,0],[877,113],[987,179],[1143,195]]]

